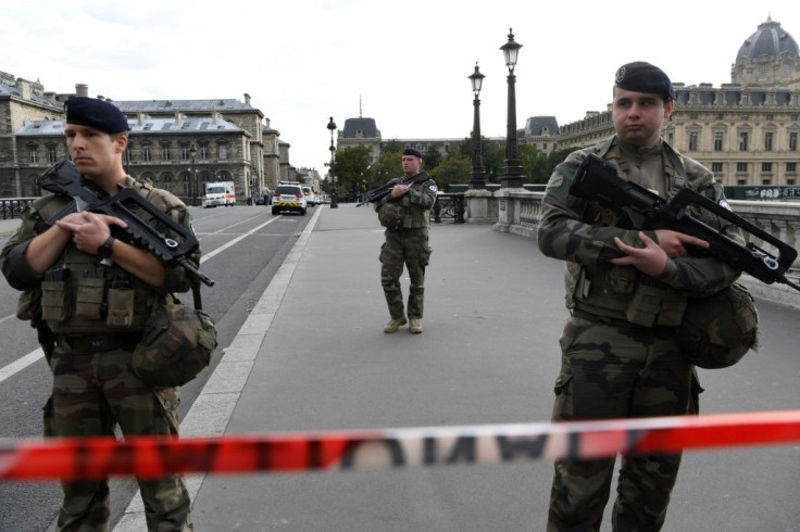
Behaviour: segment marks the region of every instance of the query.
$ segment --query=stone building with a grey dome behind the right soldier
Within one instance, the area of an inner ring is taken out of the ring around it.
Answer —
[[[730,80],[722,87],[674,83],[677,105],[664,126],[664,138],[705,165],[723,185],[798,185],[797,41],[767,18],[739,48]],[[611,110],[588,113],[561,128],[558,148],[591,145],[613,130]]]

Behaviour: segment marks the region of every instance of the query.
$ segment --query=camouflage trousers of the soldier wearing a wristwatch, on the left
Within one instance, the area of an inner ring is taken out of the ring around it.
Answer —
[[[46,436],[178,435],[179,392],[148,388],[133,371],[132,353],[72,353],[57,347],[50,359],[53,390],[45,407]],[[150,531],[192,530],[183,476],[139,480]],[[109,528],[109,482],[62,482],[59,530]]]

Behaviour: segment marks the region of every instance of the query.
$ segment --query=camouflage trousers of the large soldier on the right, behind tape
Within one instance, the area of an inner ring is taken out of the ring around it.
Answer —
[[[572,317],[560,343],[553,421],[697,411],[699,384],[671,329],[614,327]],[[555,463],[549,532],[600,530],[614,463],[614,458]],[[623,456],[613,530],[661,530],[679,466],[680,454]]]

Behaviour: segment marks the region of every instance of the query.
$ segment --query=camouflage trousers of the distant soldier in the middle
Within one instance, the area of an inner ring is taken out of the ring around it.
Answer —
[[[409,318],[422,318],[425,296],[425,266],[430,258],[428,229],[385,231],[386,242],[380,246],[380,284],[392,318],[405,315],[400,276],[403,265],[409,269]]]

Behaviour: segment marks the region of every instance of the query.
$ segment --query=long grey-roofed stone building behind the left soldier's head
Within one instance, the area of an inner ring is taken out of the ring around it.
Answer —
[[[88,87],[55,94],[45,92],[39,81],[0,72],[0,197],[39,195],[36,177],[67,157],[63,102],[72,96],[88,96]],[[282,179],[296,179],[289,144],[247,93],[243,102],[107,100],[130,125],[126,170],[187,203],[198,203],[208,181],[235,181],[237,203],[245,204],[275,190]]]

